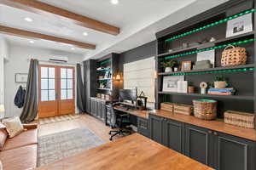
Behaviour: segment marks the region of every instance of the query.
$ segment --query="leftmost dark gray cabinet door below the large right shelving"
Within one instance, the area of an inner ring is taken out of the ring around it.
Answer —
[[[162,144],[163,142],[163,117],[149,114],[150,138]]]

